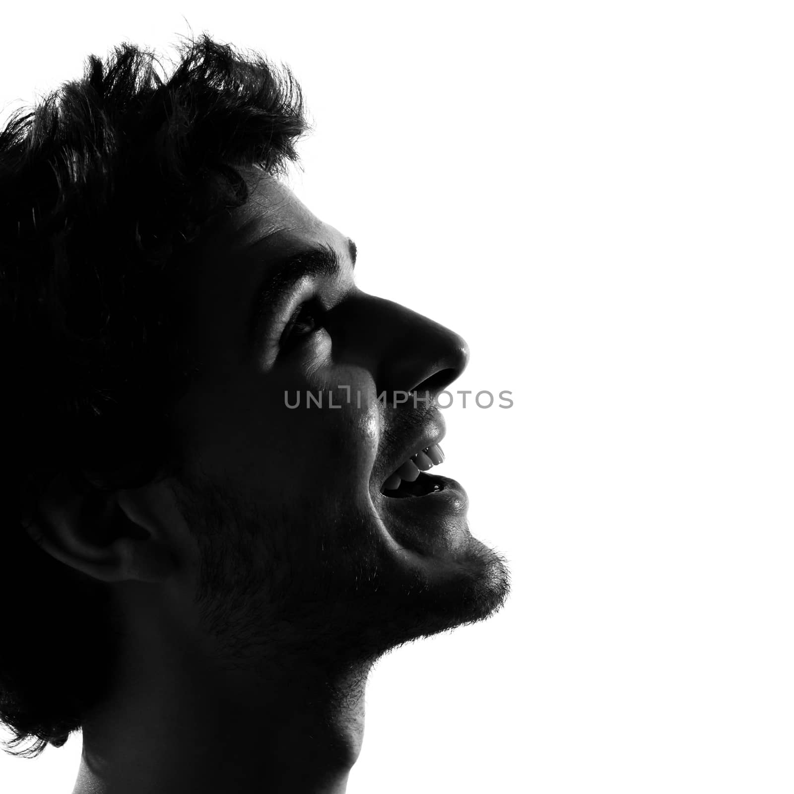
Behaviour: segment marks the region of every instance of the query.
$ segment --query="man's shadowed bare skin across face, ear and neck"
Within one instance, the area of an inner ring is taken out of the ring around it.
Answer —
[[[436,394],[463,371],[464,341],[359,291],[347,238],[276,179],[244,174],[249,201],[208,225],[179,282],[198,370],[175,414],[179,475],[88,496],[59,479],[40,509],[37,540],[108,584],[123,629],[75,794],[344,792],[372,662],[507,595],[457,483],[380,492],[441,440],[437,407],[356,404],[359,391]],[[261,279],[321,245],[339,271],[300,281],[247,345]],[[285,333],[308,299],[316,316]],[[340,407],[285,406],[306,390]]]

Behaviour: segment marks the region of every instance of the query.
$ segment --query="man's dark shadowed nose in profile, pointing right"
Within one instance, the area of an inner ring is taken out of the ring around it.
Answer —
[[[462,337],[399,303],[359,293],[347,314],[345,357],[368,362],[379,392],[437,395],[468,364]]]

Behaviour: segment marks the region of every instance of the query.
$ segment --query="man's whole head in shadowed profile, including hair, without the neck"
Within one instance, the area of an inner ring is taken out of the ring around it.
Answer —
[[[0,133],[0,719],[33,751],[162,658],[338,681],[507,594],[416,475],[466,345],[279,181],[295,80],[207,37],[152,63],[91,58]]]

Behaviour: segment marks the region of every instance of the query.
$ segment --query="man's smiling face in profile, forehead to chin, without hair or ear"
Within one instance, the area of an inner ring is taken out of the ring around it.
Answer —
[[[175,416],[177,493],[205,619],[238,651],[281,626],[353,659],[484,618],[507,571],[434,465],[433,396],[465,342],[360,291],[352,241],[243,174],[249,200],[192,245],[180,287],[198,376]]]

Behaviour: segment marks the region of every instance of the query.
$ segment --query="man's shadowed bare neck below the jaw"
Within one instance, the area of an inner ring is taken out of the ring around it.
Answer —
[[[210,669],[179,642],[140,641],[124,643],[112,696],[84,724],[73,794],[344,794],[367,665],[279,653]]]

